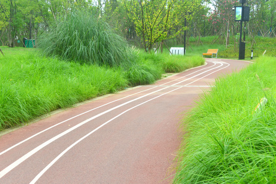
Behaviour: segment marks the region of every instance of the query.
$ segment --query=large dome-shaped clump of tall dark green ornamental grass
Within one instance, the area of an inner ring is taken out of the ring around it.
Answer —
[[[85,12],[61,17],[56,26],[38,39],[44,55],[80,63],[129,65],[132,51],[101,18]]]

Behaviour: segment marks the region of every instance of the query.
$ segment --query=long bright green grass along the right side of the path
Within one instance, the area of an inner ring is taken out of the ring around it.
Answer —
[[[182,121],[174,183],[276,183],[275,68],[258,58],[202,95]]]

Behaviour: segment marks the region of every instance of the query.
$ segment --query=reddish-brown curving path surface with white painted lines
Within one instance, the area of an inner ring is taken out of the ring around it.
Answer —
[[[249,64],[206,63],[2,135],[0,183],[170,183],[182,112]]]

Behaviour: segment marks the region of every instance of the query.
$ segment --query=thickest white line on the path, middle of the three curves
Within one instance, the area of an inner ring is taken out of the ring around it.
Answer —
[[[221,64],[221,65],[222,65],[222,64]],[[215,67],[215,68],[218,68],[218,67],[220,67],[220,66],[217,66],[217,67]],[[208,71],[211,71],[211,70],[214,70],[214,68],[211,68],[211,69],[208,70]],[[208,72],[208,71],[205,71],[205,72],[202,72],[202,73],[200,73],[200,74],[197,74],[196,76],[199,76],[199,75],[201,75],[201,74],[203,74],[203,73],[206,73],[206,72]],[[196,76],[190,77],[190,78],[188,78],[188,79],[192,79],[192,78],[194,78],[194,77],[196,77]],[[186,80],[188,80],[188,79],[186,79]],[[184,81],[186,81],[186,80],[184,80]],[[175,84],[173,84],[173,85],[176,85],[176,84],[181,83],[181,82],[182,82],[182,81],[177,82],[177,83],[175,83]],[[5,176],[8,172],[10,172],[10,171],[11,171],[12,169],[14,169],[16,166],[18,166],[19,164],[21,164],[22,162],[24,162],[27,158],[29,158],[30,156],[32,156],[34,153],[36,153],[36,152],[39,151],[40,149],[44,148],[45,146],[47,146],[47,145],[49,145],[50,143],[54,142],[55,140],[59,139],[61,136],[66,135],[67,133],[73,131],[74,129],[76,129],[76,128],[78,128],[78,127],[80,127],[80,126],[82,126],[82,125],[88,123],[88,122],[91,121],[91,120],[94,120],[95,118],[98,118],[98,117],[102,116],[102,115],[105,114],[105,113],[108,113],[108,112],[110,112],[110,111],[112,111],[112,110],[114,110],[114,109],[117,109],[117,108],[119,108],[119,107],[121,107],[121,106],[124,106],[124,105],[126,105],[126,104],[129,104],[129,103],[134,102],[134,101],[136,101],[136,100],[139,100],[139,99],[141,99],[141,98],[143,98],[143,97],[146,97],[146,96],[148,96],[148,95],[157,93],[158,91],[164,90],[164,89],[166,89],[166,88],[168,88],[168,87],[164,87],[164,88],[155,90],[155,91],[153,91],[153,92],[151,92],[151,93],[149,93],[149,94],[146,94],[146,95],[143,95],[143,96],[138,97],[138,98],[136,98],[136,99],[130,100],[130,101],[128,101],[128,102],[122,103],[122,104],[120,104],[120,105],[118,105],[118,106],[115,106],[115,107],[109,109],[109,110],[105,110],[105,111],[103,111],[103,112],[97,114],[96,116],[93,116],[92,118],[90,118],[90,119],[88,119],[88,120],[86,120],[86,121],[83,121],[83,122],[81,122],[81,123],[79,123],[79,124],[73,126],[72,128],[70,128],[70,129],[68,129],[68,130],[66,130],[66,131],[64,131],[64,132],[59,133],[58,135],[52,137],[50,140],[48,140],[48,141],[44,142],[43,144],[37,146],[37,147],[34,148],[33,150],[31,150],[31,151],[29,151],[28,153],[26,153],[24,156],[18,158],[18,159],[17,159],[15,162],[13,162],[11,165],[9,165],[9,166],[6,167],[5,169],[3,169],[3,170],[0,172],[0,178],[2,178],[3,176]]]

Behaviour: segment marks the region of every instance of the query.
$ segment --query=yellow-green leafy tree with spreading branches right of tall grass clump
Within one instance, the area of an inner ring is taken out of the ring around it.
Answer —
[[[192,18],[199,4],[197,0],[124,0],[145,52],[150,52],[154,43],[175,37],[186,29],[184,18]],[[179,30],[180,25],[182,29]]]

